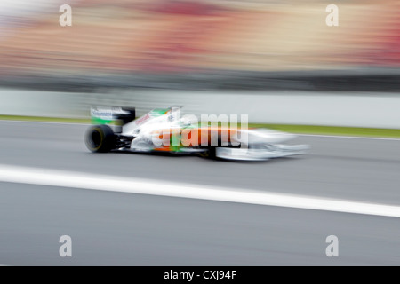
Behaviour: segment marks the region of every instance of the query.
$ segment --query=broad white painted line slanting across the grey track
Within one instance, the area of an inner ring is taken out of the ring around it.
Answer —
[[[400,207],[358,201],[342,201],[315,196],[233,190],[205,185],[160,182],[132,177],[83,174],[0,164],[0,181],[29,185],[50,185],[121,193],[140,193],[210,201],[316,209],[355,214],[400,217]]]

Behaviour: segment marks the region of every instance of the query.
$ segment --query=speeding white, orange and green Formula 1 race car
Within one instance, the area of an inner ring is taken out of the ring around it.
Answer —
[[[200,123],[196,115],[180,118],[180,108],[156,108],[137,118],[132,107],[92,107],[93,125],[85,134],[85,144],[96,153],[163,152],[247,161],[305,154],[308,150],[307,145],[282,144],[295,138],[290,133],[248,129],[247,123],[239,127],[237,120],[228,122],[221,116],[217,121]]]

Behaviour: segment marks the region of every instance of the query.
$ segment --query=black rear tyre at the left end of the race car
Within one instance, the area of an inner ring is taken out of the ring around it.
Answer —
[[[85,134],[84,142],[94,153],[106,153],[116,147],[116,135],[106,124],[93,125]]]

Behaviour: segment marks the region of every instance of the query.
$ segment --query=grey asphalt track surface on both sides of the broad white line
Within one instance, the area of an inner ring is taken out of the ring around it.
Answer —
[[[0,163],[400,206],[400,140],[301,136],[268,162],[92,154],[87,126],[0,122]],[[399,265],[400,219],[0,181],[0,264]],[[60,257],[60,236],[72,257]],[[325,239],[336,235],[339,256]]]

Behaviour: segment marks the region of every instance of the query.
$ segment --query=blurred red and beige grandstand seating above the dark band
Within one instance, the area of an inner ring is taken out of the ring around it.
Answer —
[[[397,0],[340,1],[336,28],[324,20],[331,3],[316,0],[68,1],[72,28],[58,25],[60,4],[5,2],[2,25],[8,32],[0,41],[0,72],[166,74],[400,63]]]

